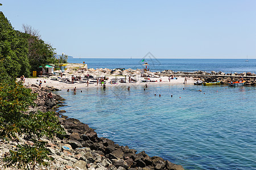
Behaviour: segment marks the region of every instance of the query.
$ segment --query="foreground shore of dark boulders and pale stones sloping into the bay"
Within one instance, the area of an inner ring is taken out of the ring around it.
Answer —
[[[183,169],[181,165],[173,164],[158,156],[148,156],[144,151],[137,154],[127,146],[119,146],[110,139],[99,138],[97,133],[75,118],[64,116],[65,111],[59,111],[64,100],[61,96],[53,94],[53,100],[47,99],[49,91],[56,89],[51,87],[38,88],[30,86],[34,93],[38,93],[35,101],[36,107],[31,107],[29,112],[55,111],[59,117],[59,122],[66,131],[66,135],[46,139],[50,157],[53,158],[49,167],[42,169]],[[5,152],[15,149],[13,141],[1,142],[0,159],[5,156]],[[24,137],[20,137],[19,142],[31,143]],[[0,169],[3,163],[0,163]],[[13,168],[15,169],[15,168]],[[40,167],[36,167],[40,169]]]

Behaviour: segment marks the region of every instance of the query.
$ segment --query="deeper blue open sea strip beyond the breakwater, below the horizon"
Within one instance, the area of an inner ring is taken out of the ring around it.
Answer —
[[[180,71],[224,71],[225,73],[256,73],[256,59],[156,59],[146,58],[151,71],[180,70]],[[69,63],[87,63],[89,68],[97,67],[115,69],[141,69],[142,59],[124,58],[69,58]]]

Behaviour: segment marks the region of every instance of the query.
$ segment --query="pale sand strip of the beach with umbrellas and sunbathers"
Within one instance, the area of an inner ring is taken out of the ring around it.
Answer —
[[[122,78],[123,80],[125,80],[125,76],[117,76],[117,78]],[[150,78],[150,80],[158,80],[158,82],[147,82],[148,86],[150,84],[183,84],[184,83],[184,77],[177,77],[177,79],[171,79],[170,82],[168,80],[168,76],[162,76],[162,82],[160,82],[160,78]],[[141,82],[141,80],[145,80],[143,77],[137,77],[137,83],[120,83],[118,82],[117,84],[110,84],[110,80],[114,80],[115,76],[109,76],[109,80],[106,80],[106,87],[108,86],[135,86],[135,85],[145,85],[145,82]],[[17,79],[19,80],[19,79]],[[51,80],[50,78],[42,78],[42,77],[38,77],[38,78],[26,78],[25,83],[24,84],[35,84],[35,85],[39,85],[39,80],[42,81],[42,87],[46,87],[46,86],[50,86],[50,87],[54,87],[54,88],[58,88],[58,89],[73,89],[74,87],[76,88],[93,88],[93,87],[97,87],[97,83],[93,83],[90,84],[92,82],[90,82],[92,79],[89,80],[89,87],[87,87],[87,83],[65,83],[65,82],[59,82],[59,80]],[[45,81],[45,82],[44,82]],[[85,80],[84,80],[85,82]],[[127,78],[126,78],[126,82],[128,82]],[[195,80],[193,80],[193,78],[187,78],[187,84],[192,84],[193,82],[195,82]],[[98,87],[100,87],[100,81],[98,83]]]

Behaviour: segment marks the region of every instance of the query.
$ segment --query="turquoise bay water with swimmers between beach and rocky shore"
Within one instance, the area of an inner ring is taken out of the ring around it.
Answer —
[[[99,137],[185,169],[256,169],[255,87],[149,84],[146,91],[142,86],[80,90],[58,92],[67,99],[61,109]]]

